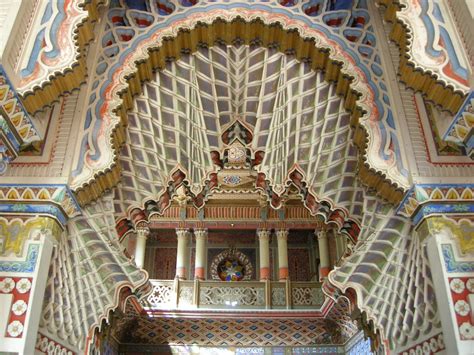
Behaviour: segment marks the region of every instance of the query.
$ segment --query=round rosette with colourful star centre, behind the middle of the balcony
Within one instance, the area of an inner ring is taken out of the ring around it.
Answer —
[[[237,250],[229,249],[218,254],[211,264],[211,276],[219,281],[249,281],[253,266],[247,256]]]

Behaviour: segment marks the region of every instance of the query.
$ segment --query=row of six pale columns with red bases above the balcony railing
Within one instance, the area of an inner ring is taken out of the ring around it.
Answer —
[[[137,228],[137,241],[135,247],[135,263],[138,267],[143,268],[145,261],[146,240],[149,235],[148,228]],[[194,278],[198,280],[205,279],[206,270],[206,245],[208,231],[207,229],[194,229],[191,232],[187,228],[176,229],[177,237],[177,255],[176,255],[176,278],[186,279],[189,269],[189,244],[192,236],[195,236],[196,252]],[[278,280],[286,281],[289,279],[288,271],[288,229],[278,229],[275,231],[278,246]],[[259,244],[259,262],[260,262],[260,280],[271,279],[270,269],[270,237],[271,230],[257,230]],[[327,232],[319,230],[315,232],[318,240],[318,253],[320,258],[319,276],[324,278],[330,271],[329,245]]]

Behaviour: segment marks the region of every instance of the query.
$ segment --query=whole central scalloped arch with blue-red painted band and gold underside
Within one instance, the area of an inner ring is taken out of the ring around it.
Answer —
[[[152,71],[163,68],[169,58],[179,58],[182,51],[195,52],[203,45],[234,40],[278,46],[282,52],[294,53],[298,60],[310,60],[313,70],[323,70],[326,81],[336,82],[336,93],[345,98],[344,107],[352,111],[354,141],[362,151],[359,176],[388,200],[401,199],[408,187],[408,173],[403,168],[392,114],[381,104],[388,96],[384,94],[382,100],[371,81],[371,71],[354,50],[324,27],[310,27],[284,11],[232,7],[196,12],[164,28],[156,25],[133,45],[117,51],[113,65],[110,63],[99,76],[102,86],[99,80],[93,81],[92,87],[97,90],[91,96],[94,103],[87,112],[73,172],[73,188],[82,204],[118,182],[116,148],[124,141],[127,111],[132,107],[132,96],[141,92],[142,82],[152,78]]]

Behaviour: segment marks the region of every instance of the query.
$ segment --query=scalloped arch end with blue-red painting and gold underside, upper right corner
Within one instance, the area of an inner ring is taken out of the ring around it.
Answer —
[[[469,92],[470,64],[442,0],[378,0],[395,21],[401,80],[456,114]]]

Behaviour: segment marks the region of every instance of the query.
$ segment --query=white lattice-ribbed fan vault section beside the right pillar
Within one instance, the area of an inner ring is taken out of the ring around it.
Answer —
[[[426,247],[390,205],[368,197],[364,210],[359,243],[329,278],[354,288],[390,348],[403,347],[440,327]]]

